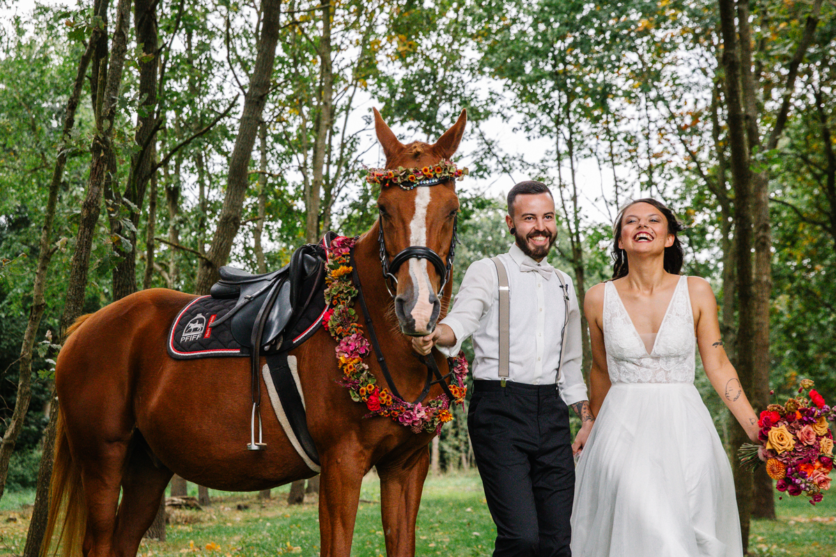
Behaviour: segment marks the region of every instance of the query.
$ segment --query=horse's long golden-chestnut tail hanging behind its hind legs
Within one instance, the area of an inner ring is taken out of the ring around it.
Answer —
[[[70,327],[69,332],[78,327],[86,316],[79,318]],[[62,557],[78,557],[84,542],[84,530],[87,528],[87,514],[84,485],[81,483],[81,468],[69,453],[69,440],[64,425],[64,416],[59,411],[58,425],[55,429],[55,456],[49,494],[49,519],[43,534],[40,557],[58,554]],[[64,519],[59,525],[59,517]],[[50,551],[56,528],[59,529],[54,552]]]

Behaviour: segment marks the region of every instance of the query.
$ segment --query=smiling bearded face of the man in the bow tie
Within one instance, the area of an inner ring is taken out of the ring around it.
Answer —
[[[522,194],[514,199],[513,216],[506,215],[509,229],[516,229],[517,246],[534,261],[548,255],[558,237],[551,195]]]

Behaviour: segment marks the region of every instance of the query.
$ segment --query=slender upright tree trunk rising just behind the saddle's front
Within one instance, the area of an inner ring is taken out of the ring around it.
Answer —
[[[307,228],[305,240],[309,244],[319,241],[319,197],[325,170],[325,154],[331,130],[334,73],[331,60],[331,7],[329,0],[322,0],[322,37],[319,38],[319,111],[314,124],[314,160],[310,188],[305,191],[305,212]]]

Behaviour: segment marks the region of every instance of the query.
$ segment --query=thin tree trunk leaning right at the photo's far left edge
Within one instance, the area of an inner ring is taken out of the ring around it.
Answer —
[[[54,254],[52,243],[53,220],[55,217],[55,206],[58,205],[58,192],[61,182],[64,180],[64,166],[67,163],[67,153],[72,140],[70,133],[75,125],[75,111],[78,109],[81,99],[81,90],[84,87],[85,73],[93,55],[93,43],[88,43],[84,54],[79,59],[79,68],[76,72],[73,92],[67,100],[67,109],[64,116],[64,128],[61,134],[61,144],[58,156],[55,160],[52,180],[49,182],[49,195],[47,206],[44,208],[43,227],[41,228],[40,241],[38,242],[38,266],[35,271],[35,279],[32,292],[32,305],[29,307],[29,319],[26,324],[26,331],[23,332],[23,343],[20,347],[18,358],[18,393],[14,403],[14,412],[11,422],[8,423],[6,433],[3,434],[3,442],[0,443],[0,499],[6,488],[8,475],[8,463],[12,458],[15,444],[18,442],[18,435],[23,428],[23,421],[29,408],[32,398],[32,357],[35,338],[38,335],[38,327],[41,324],[43,312],[46,311],[47,302],[44,291],[46,290],[47,271],[49,261]],[[60,339],[58,342],[61,342]]]

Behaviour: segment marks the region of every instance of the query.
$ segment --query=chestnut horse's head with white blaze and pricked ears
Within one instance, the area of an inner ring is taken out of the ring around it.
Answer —
[[[375,130],[386,155],[386,169],[436,169],[458,149],[466,121],[462,110],[456,124],[436,143],[402,144],[375,109]],[[418,176],[416,182],[421,184],[421,174]],[[397,285],[395,314],[400,330],[410,336],[426,335],[436,328],[441,312],[439,296],[450,278],[459,210],[455,179],[445,176],[440,182],[425,182],[436,183],[411,187],[413,183],[405,181],[403,187],[381,187],[377,200],[381,245],[385,246],[381,261],[384,272],[390,273],[388,279]]]

